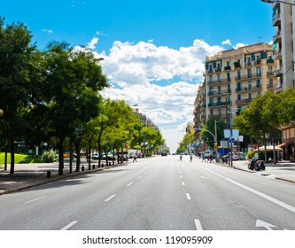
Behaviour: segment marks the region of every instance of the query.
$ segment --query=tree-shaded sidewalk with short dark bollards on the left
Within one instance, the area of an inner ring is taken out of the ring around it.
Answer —
[[[14,174],[10,174],[10,165],[4,170],[4,165],[0,165],[0,195],[16,192],[19,190],[27,190],[29,188],[43,185],[48,182],[58,181],[67,177],[74,177],[80,174],[95,173],[111,167],[126,166],[128,162],[117,164],[111,161],[111,166],[105,167],[105,161],[101,162],[104,167],[98,168],[97,160],[91,161],[91,170],[85,159],[82,159],[80,172],[75,172],[75,162],[73,163],[73,173],[70,174],[69,165],[65,163],[63,175],[58,175],[58,163],[38,163],[38,164],[15,164]],[[93,169],[93,165],[95,168]],[[82,171],[84,167],[84,171]],[[47,177],[50,172],[50,177]]]

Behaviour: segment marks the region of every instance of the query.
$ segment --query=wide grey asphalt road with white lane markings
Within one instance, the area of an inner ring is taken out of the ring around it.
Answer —
[[[295,230],[295,186],[189,156],[0,196],[3,230]]]

